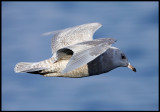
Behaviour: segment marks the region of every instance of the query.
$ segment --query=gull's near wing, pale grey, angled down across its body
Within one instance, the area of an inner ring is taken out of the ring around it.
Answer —
[[[73,51],[73,55],[62,73],[70,72],[94,60],[110,48],[115,41],[115,39],[103,38],[66,47]]]

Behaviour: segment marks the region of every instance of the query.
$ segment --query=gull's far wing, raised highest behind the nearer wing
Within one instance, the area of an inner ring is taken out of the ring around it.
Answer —
[[[56,51],[66,46],[93,40],[93,34],[101,26],[100,23],[89,23],[59,31],[44,33],[43,35],[54,34],[51,44],[52,53],[54,54]]]

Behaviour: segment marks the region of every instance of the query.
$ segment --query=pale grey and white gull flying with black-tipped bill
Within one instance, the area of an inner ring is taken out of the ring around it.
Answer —
[[[14,71],[71,78],[99,75],[117,67],[128,67],[136,72],[125,54],[112,47],[116,39],[93,39],[93,34],[101,26],[100,23],[88,23],[44,33],[54,35],[51,42],[52,57],[40,62],[17,63]]]

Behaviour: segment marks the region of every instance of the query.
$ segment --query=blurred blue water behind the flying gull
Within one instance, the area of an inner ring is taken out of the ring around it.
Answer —
[[[158,110],[158,2],[2,2],[2,110]],[[103,24],[137,69],[85,78],[16,74],[20,61],[52,56],[42,33]]]

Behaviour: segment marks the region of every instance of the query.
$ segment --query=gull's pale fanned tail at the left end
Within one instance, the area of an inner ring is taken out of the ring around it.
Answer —
[[[36,62],[36,63],[20,62],[20,63],[16,64],[14,71],[16,73],[35,72],[35,71],[39,71],[39,70],[43,70],[43,69],[46,69],[46,68],[40,66],[39,62]]]

